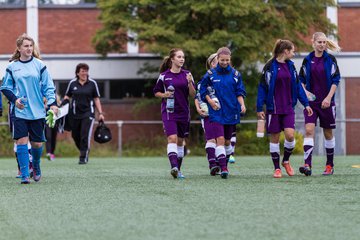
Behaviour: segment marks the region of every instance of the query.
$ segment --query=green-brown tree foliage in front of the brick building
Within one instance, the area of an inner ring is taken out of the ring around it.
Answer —
[[[304,36],[316,29],[332,34],[325,15],[333,0],[99,0],[103,28],[93,39],[96,51],[123,52],[127,41],[166,55],[184,49],[187,66],[204,72],[206,57],[221,46],[233,52],[233,64],[265,61],[278,38],[306,47]],[[126,32],[137,33],[130,39]]]

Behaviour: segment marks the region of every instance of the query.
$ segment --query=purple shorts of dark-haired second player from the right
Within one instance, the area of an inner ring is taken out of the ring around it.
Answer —
[[[295,113],[290,114],[266,114],[267,133],[279,133],[285,128],[295,129]]]

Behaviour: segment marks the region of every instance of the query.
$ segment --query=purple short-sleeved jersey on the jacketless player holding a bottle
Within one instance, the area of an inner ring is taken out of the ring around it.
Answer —
[[[179,73],[173,73],[169,70],[160,74],[156,85],[153,89],[154,94],[157,92],[166,92],[166,89],[172,85],[175,88],[174,99],[175,107],[174,112],[169,113],[166,111],[166,98],[161,102],[161,116],[162,120],[176,120],[176,121],[190,121],[189,109],[189,87],[186,79],[186,74],[189,71],[181,69]],[[194,87],[195,84],[193,83]]]

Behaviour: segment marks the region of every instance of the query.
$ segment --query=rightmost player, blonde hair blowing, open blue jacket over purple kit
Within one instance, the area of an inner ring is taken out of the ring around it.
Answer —
[[[334,173],[334,148],[336,107],[335,91],[340,81],[340,71],[336,58],[327,49],[340,51],[340,47],[329,40],[322,32],[314,33],[312,37],[314,51],[304,58],[300,70],[300,80],[310,101],[314,115],[305,117],[304,161],[299,171],[305,176],[311,175],[312,151],[314,148],[314,134],[317,119],[323,128],[326,149],[326,166],[323,175]]]

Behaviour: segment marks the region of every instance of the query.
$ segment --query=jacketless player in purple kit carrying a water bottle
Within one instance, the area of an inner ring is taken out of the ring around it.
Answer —
[[[184,157],[184,138],[189,135],[189,96],[195,97],[191,73],[182,67],[185,55],[182,49],[174,48],[160,66],[160,76],[153,89],[155,97],[162,98],[161,116],[167,136],[167,155],[174,178],[184,178],[181,165]]]

